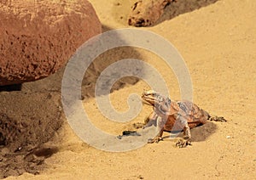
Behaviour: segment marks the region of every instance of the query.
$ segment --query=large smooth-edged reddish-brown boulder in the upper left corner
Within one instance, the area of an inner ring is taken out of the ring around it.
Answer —
[[[1,1],[0,18],[0,86],[55,73],[102,31],[86,0]]]

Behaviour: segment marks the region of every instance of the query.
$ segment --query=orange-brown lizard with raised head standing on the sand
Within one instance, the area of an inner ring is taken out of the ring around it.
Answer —
[[[152,90],[144,92],[142,98],[152,105],[154,110],[148,116],[148,123],[145,127],[150,127],[153,124],[156,126],[157,124],[160,131],[154,139],[149,139],[148,143],[158,143],[162,140],[164,131],[183,130],[183,140],[180,140],[176,145],[180,148],[186,147],[191,144],[190,129],[207,123],[207,120],[211,118],[207,111],[201,110],[192,102],[186,100],[172,101],[170,98],[166,98]],[[160,118],[158,119],[158,117]],[[156,123],[157,119],[158,123]],[[213,121],[215,120],[213,119]]]

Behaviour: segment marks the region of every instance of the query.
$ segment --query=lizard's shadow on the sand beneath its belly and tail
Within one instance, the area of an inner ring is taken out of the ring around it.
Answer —
[[[200,127],[194,127],[190,130],[191,132],[191,141],[192,142],[200,142],[205,141],[207,138],[209,138],[214,132],[217,130],[217,125],[214,124],[211,121],[208,121],[206,124],[200,126]],[[170,138],[170,134],[168,136],[163,137]],[[174,138],[174,137],[173,137]],[[177,138],[183,138],[183,132],[180,132],[177,135]]]

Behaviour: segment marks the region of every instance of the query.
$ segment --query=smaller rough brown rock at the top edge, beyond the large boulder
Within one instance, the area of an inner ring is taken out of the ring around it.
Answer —
[[[133,4],[128,24],[133,26],[157,25],[172,20],[179,14],[189,13],[218,0],[139,0]],[[168,5],[170,4],[170,6]]]

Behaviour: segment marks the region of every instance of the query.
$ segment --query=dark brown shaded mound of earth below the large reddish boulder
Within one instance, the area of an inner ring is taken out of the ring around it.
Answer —
[[[37,172],[44,159],[27,156],[61,127],[60,99],[56,93],[1,93],[0,177]]]

